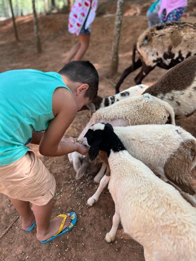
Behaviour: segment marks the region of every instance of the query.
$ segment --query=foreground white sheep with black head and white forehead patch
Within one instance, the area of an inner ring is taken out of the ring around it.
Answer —
[[[105,240],[114,241],[121,221],[124,232],[143,246],[146,261],[196,260],[196,209],[132,157],[110,124],[91,126],[85,138],[91,160],[102,151],[110,168],[115,214]]]

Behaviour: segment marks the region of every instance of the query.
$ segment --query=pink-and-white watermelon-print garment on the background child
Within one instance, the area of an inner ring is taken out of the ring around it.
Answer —
[[[76,0],[69,13],[68,30],[73,35],[79,35],[85,23],[85,29],[89,28],[96,16],[98,0]],[[89,12],[90,9],[90,12]],[[89,13],[89,15],[88,15]],[[87,17],[88,15],[88,17]]]

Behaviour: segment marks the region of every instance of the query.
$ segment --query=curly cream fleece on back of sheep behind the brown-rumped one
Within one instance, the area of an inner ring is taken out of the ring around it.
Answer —
[[[127,119],[128,125],[165,124],[169,116],[172,124],[175,124],[172,107],[167,102],[146,93],[100,108],[93,114],[91,120],[97,123],[100,119],[109,122],[114,119]]]

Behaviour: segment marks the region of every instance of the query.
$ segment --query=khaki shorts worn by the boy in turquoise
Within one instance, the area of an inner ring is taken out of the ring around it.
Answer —
[[[54,197],[55,187],[53,175],[30,149],[16,162],[0,166],[0,193],[11,198],[42,206]]]

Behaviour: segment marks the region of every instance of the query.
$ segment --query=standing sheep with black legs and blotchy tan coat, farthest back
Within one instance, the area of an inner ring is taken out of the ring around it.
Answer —
[[[140,58],[135,61],[136,50]],[[116,93],[127,75],[141,67],[134,78],[136,84],[155,66],[170,69],[189,56],[196,55],[196,23],[164,23],[146,29],[133,48],[132,65],[125,69],[116,85]]]

